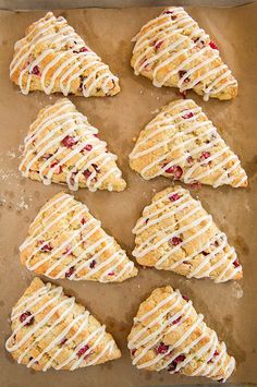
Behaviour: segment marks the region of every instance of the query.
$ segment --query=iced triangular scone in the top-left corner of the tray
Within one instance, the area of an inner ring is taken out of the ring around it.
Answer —
[[[62,16],[48,12],[14,46],[10,77],[23,94],[113,96],[119,80]]]

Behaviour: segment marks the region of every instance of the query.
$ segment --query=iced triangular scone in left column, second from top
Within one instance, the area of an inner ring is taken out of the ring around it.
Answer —
[[[66,98],[41,109],[24,141],[20,171],[26,178],[68,184],[70,190],[123,191],[117,156],[107,150],[98,130]]]

